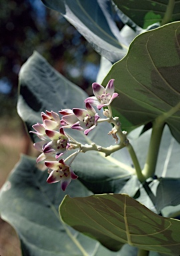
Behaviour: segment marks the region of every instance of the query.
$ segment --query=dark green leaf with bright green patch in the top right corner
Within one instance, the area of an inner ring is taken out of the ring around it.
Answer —
[[[167,22],[180,19],[180,3],[177,0],[113,0],[113,2],[125,15],[144,29],[155,22],[161,23],[167,9],[169,13],[172,9],[172,15]]]

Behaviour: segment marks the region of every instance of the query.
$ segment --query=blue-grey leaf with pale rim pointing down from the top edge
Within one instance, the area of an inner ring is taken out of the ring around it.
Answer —
[[[42,0],[59,11],[91,43],[95,51],[111,62],[125,56],[128,44],[121,37],[109,0]]]

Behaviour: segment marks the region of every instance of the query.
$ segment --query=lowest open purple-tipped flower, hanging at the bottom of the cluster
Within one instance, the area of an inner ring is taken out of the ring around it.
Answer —
[[[61,181],[63,191],[67,188],[71,179],[77,179],[73,170],[69,165],[66,165],[63,159],[59,161],[45,161],[45,165],[49,168],[49,177],[47,183],[55,183]]]

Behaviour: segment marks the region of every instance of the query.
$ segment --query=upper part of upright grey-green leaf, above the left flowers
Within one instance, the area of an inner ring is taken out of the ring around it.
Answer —
[[[87,94],[55,71],[37,51],[29,57],[19,72],[19,96],[17,112],[25,121],[27,130],[42,123],[42,111],[56,111],[83,107]],[[79,133],[77,133],[78,135]],[[31,139],[38,138],[30,133]]]

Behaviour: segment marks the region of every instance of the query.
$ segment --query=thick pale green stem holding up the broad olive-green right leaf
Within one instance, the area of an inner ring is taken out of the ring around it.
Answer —
[[[157,163],[157,157],[159,153],[159,147],[161,143],[161,137],[163,134],[164,122],[159,122],[156,119],[153,123],[153,129],[151,133],[151,140],[149,143],[149,151],[147,154],[147,160],[143,169],[143,175],[147,178],[153,177],[155,173],[155,167]]]

